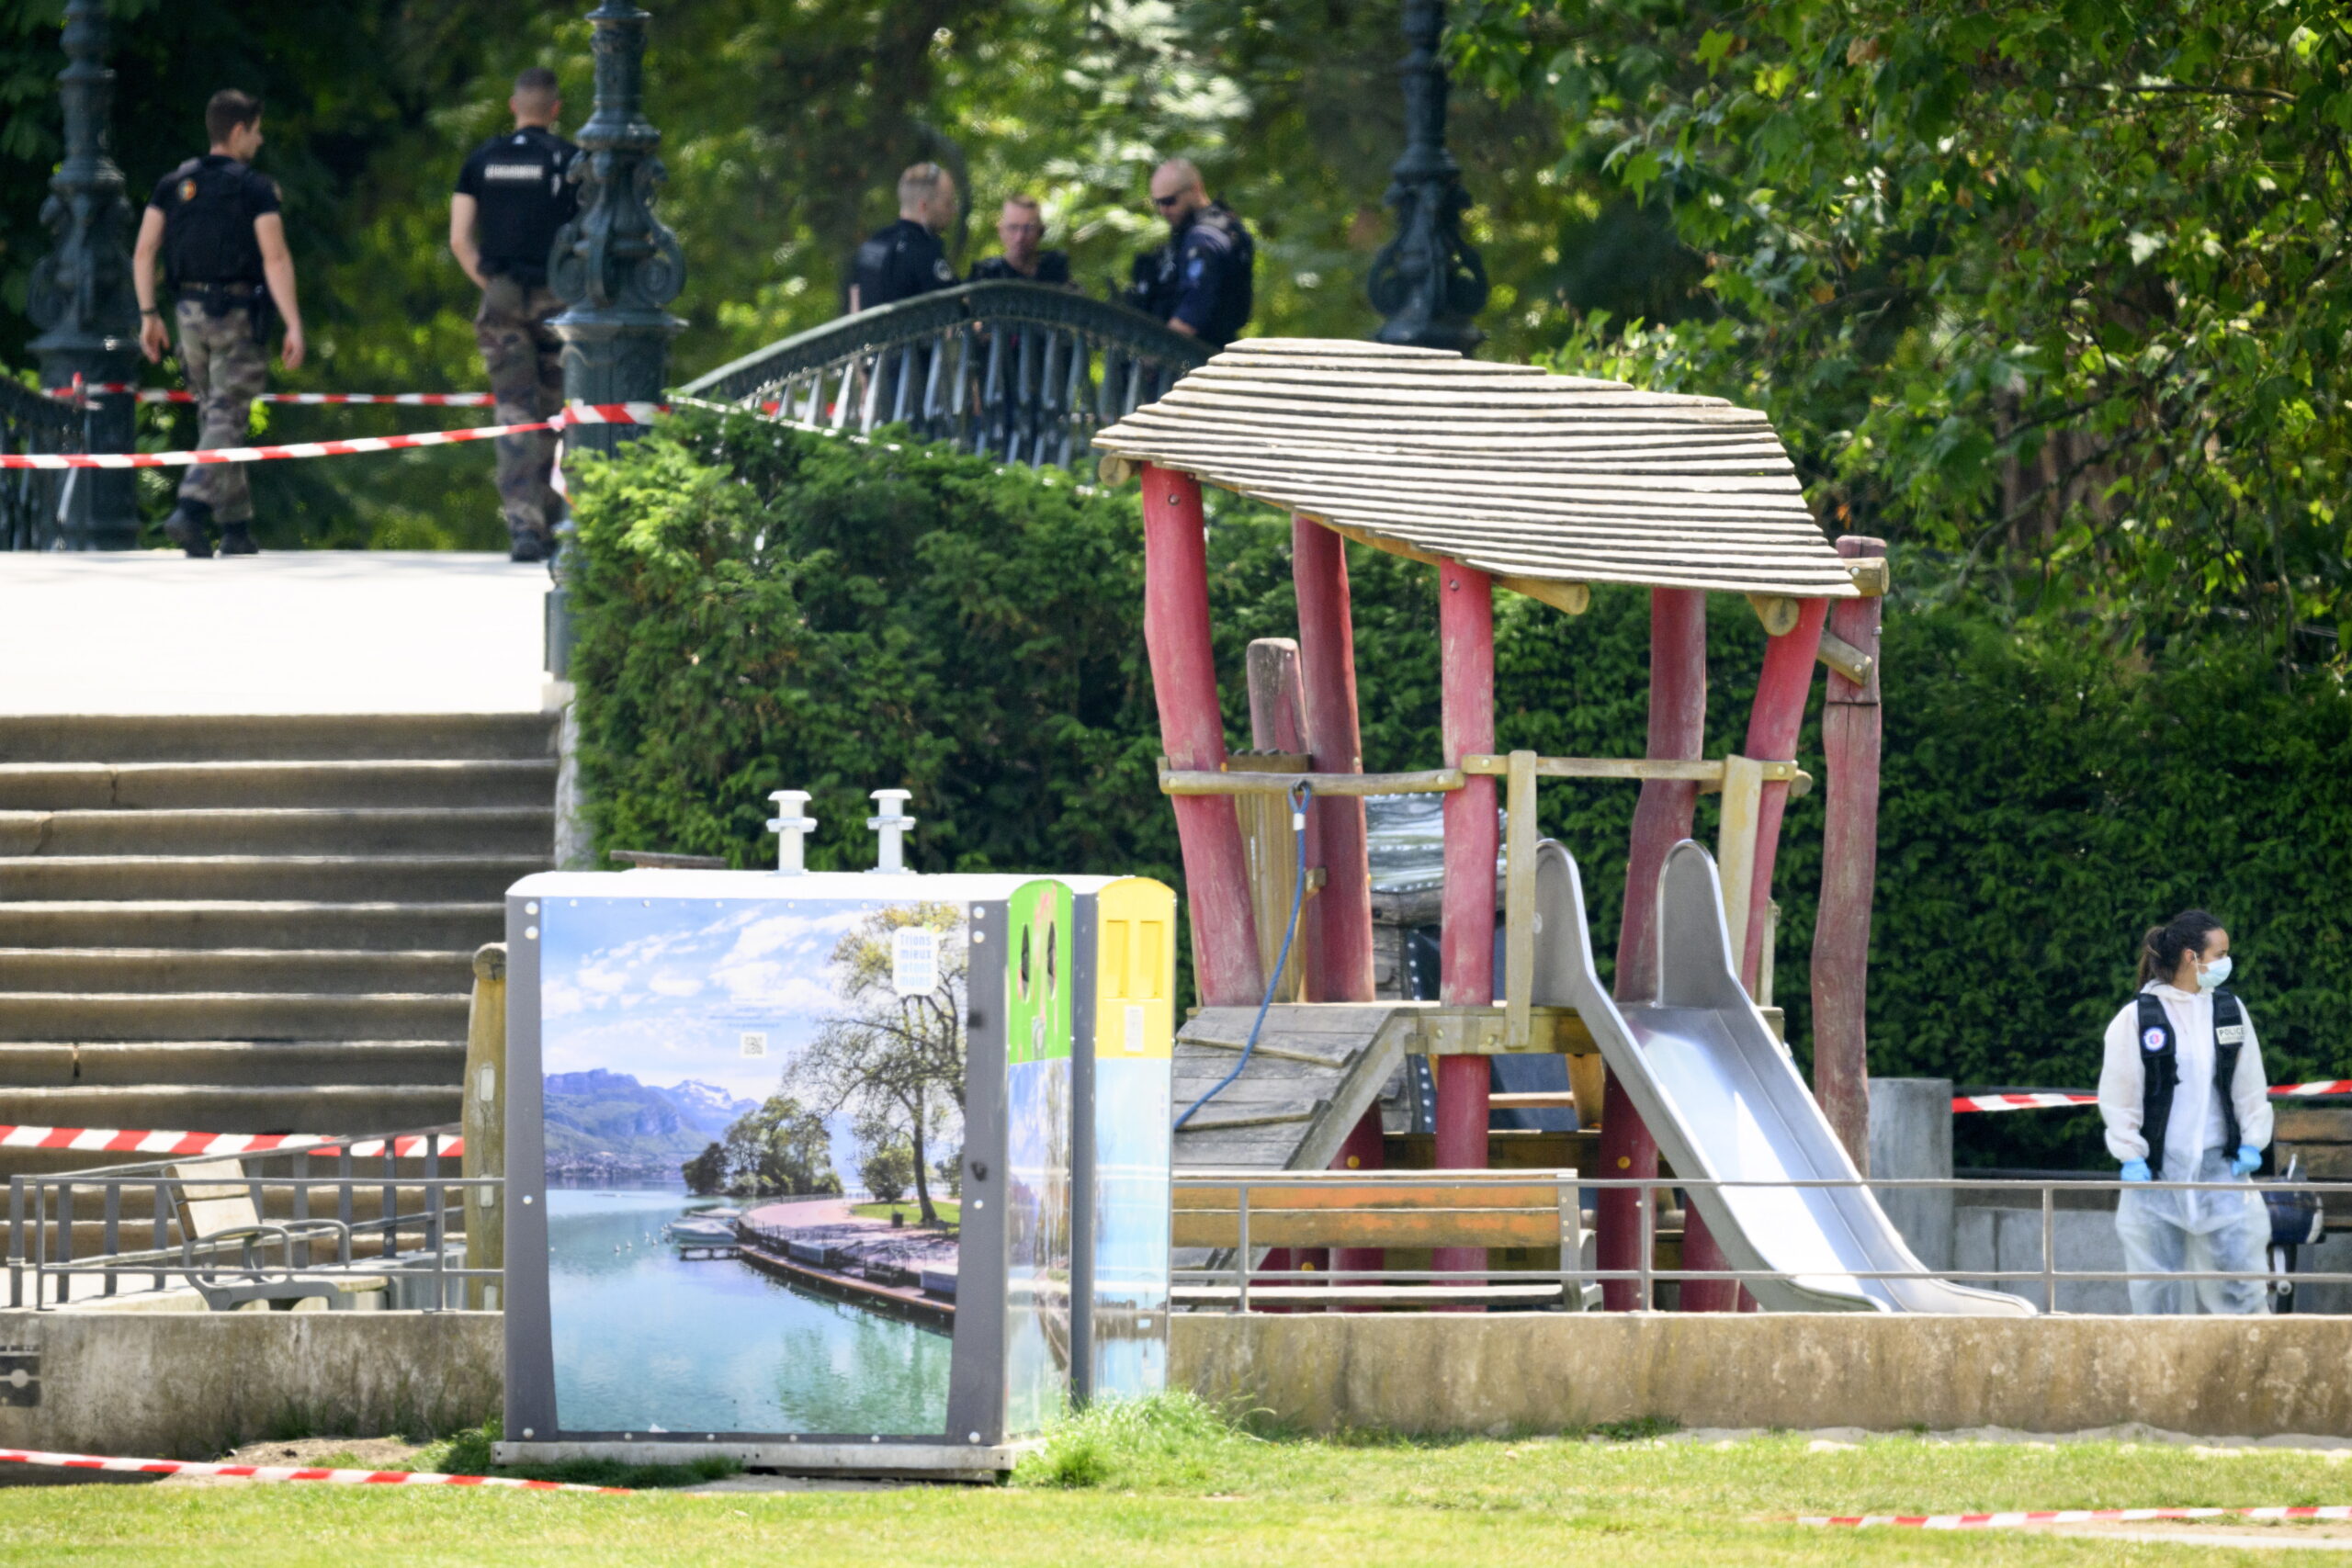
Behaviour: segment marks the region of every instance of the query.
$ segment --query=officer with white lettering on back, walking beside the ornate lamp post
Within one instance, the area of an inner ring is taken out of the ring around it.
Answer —
[[[569,179],[579,148],[555,134],[564,101],[546,66],[515,78],[506,108],[515,129],[485,141],[459,169],[449,197],[449,252],[482,289],[473,339],[482,346],[489,393],[499,400],[496,418],[501,425],[527,425],[564,407],[564,346],[548,327],[564,306],[548,292],[548,252],[555,249],[555,230],[579,212],[579,186]],[[506,512],[517,562],[539,562],[555,550],[562,498],[553,475],[553,430],[499,437],[499,510]]]

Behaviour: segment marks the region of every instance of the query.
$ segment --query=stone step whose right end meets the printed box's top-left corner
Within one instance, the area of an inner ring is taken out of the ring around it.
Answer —
[[[447,950],[506,940],[496,900],[136,900],[0,903],[0,947]]]

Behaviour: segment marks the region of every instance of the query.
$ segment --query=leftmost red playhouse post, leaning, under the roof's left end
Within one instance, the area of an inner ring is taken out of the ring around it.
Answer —
[[[1200,480],[1143,465],[1143,644],[1169,766],[1225,766],[1209,646],[1209,541]],[[1242,823],[1221,795],[1176,795],[1185,903],[1192,905],[1192,985],[1202,1006],[1256,1006],[1265,994],[1258,926],[1249,912]]]

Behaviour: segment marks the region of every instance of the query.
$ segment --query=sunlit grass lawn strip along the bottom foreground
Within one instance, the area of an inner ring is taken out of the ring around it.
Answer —
[[[2343,1502],[2352,1465],[2249,1450],[1802,1436],[1256,1439],[1197,1406],[1061,1429],[1007,1488],[630,1497],[332,1486],[0,1490],[0,1563],[2237,1563],[2027,1530],[1823,1530],[1790,1514]],[[2298,1526],[2234,1526],[2296,1540]],[[2286,1561],[2310,1561],[2296,1552]],[[2321,1559],[2326,1561],[2326,1559]]]

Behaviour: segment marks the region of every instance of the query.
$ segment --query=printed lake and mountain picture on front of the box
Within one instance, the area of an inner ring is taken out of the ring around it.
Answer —
[[[541,924],[560,1429],[943,1432],[964,905],[553,898]]]

